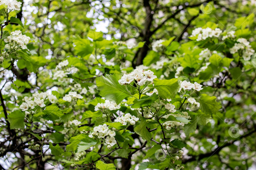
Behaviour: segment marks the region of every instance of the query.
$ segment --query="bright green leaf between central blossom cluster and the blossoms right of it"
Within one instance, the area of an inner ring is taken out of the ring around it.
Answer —
[[[156,90],[158,91],[158,95],[161,98],[170,99],[175,97],[176,93],[180,89],[180,85],[177,78],[173,78],[170,80],[159,80],[155,78],[154,88],[156,88]]]

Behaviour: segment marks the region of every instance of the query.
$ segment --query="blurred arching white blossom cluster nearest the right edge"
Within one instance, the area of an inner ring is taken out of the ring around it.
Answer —
[[[235,54],[238,52],[238,50],[242,50],[242,57],[244,60],[248,61],[251,59],[251,55],[255,52],[252,49],[252,46],[250,45],[250,42],[248,42],[245,38],[238,38],[236,40],[238,43],[235,43],[235,45],[230,48],[230,53]]]

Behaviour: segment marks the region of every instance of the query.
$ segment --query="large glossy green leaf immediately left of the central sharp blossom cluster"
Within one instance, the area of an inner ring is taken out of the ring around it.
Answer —
[[[110,101],[119,104],[126,97],[132,96],[125,88],[119,84],[118,80],[121,79],[119,74],[107,74],[106,77],[100,76],[96,78],[96,84],[100,91],[100,95]]]

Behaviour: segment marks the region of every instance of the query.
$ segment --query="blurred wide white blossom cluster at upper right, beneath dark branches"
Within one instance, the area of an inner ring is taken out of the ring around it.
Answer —
[[[219,37],[221,33],[222,33],[222,30],[219,28],[215,28],[214,30],[212,30],[209,27],[204,29],[199,27],[192,31],[191,37],[197,36],[196,41],[201,41],[201,40],[205,40],[208,37]]]

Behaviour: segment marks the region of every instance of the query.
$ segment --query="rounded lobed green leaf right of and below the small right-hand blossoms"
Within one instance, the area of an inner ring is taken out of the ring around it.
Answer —
[[[199,102],[200,110],[202,110],[202,112],[204,112],[205,114],[216,114],[216,112],[219,111],[221,108],[221,105],[216,101],[215,96],[210,97],[207,94],[202,94]]]

